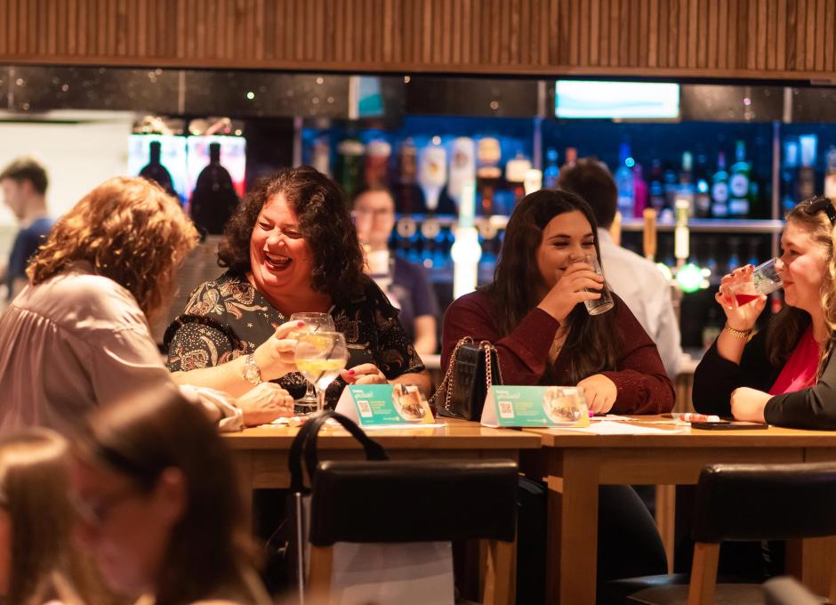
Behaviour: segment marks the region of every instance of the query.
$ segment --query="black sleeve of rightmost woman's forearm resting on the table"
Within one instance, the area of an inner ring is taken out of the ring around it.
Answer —
[[[769,424],[796,429],[836,430],[836,360],[827,359],[816,386],[767,401],[763,415]]]

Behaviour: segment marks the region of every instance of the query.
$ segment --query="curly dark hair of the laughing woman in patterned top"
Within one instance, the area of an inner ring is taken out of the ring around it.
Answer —
[[[311,286],[344,300],[363,283],[363,252],[351,222],[349,204],[342,189],[325,174],[310,166],[285,168],[260,181],[227,223],[218,264],[244,273],[250,267],[250,238],[261,208],[270,198],[283,195],[299,220],[299,230],[308,240],[314,267]]]

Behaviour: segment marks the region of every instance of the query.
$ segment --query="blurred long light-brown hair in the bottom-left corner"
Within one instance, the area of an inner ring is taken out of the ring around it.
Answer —
[[[0,508],[12,521],[4,602],[101,602],[92,562],[70,544],[67,451],[67,442],[47,429],[29,429],[0,441]]]

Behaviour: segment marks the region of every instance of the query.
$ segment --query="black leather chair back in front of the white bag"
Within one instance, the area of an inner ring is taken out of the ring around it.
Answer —
[[[310,543],[511,542],[517,464],[510,460],[320,463]]]

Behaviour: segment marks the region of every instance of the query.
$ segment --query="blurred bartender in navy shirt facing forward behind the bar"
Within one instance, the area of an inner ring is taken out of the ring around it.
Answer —
[[[398,308],[400,325],[419,355],[438,347],[438,300],[420,265],[392,254],[389,238],[395,228],[395,200],[390,190],[368,187],[354,196],[355,225],[366,253],[366,270]]]

